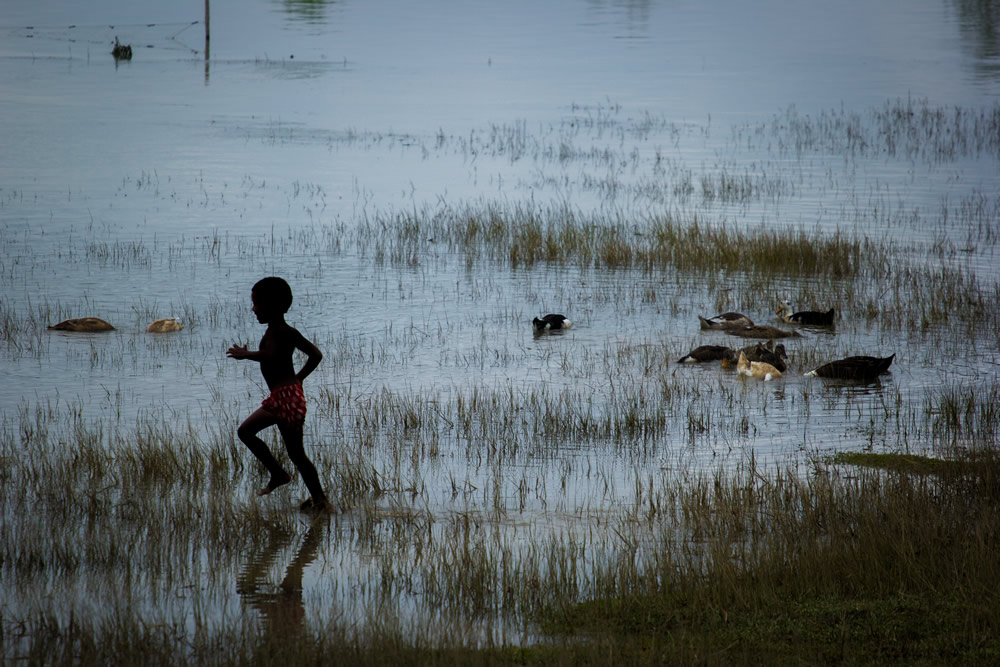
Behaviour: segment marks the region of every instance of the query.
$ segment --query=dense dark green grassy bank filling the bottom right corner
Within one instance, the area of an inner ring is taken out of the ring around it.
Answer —
[[[865,467],[824,467],[808,480],[751,468],[694,485],[683,492],[681,534],[703,548],[667,538],[641,584],[607,572],[612,597],[552,613],[546,627],[617,637],[637,663],[649,653],[737,663],[996,659],[995,453],[966,463],[835,462]]]

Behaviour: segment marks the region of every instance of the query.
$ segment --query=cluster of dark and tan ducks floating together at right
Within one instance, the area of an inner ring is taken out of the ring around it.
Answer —
[[[836,310],[796,310],[793,303],[780,301],[778,320],[785,324],[830,329],[836,321]],[[759,378],[764,381],[780,378],[788,370],[788,353],[782,344],[775,345],[776,339],[801,338],[795,329],[784,329],[766,324],[755,324],[753,320],[738,312],[725,312],[713,317],[698,316],[700,328],[721,331],[730,336],[758,338],[758,342],[742,348],[726,345],[699,345],[680,357],[677,363],[692,364],[719,361],[723,367],[736,368],[737,374]],[[888,357],[857,355],[844,359],[834,359],[805,373],[806,377],[821,377],[857,382],[872,382],[887,372],[895,354]]]

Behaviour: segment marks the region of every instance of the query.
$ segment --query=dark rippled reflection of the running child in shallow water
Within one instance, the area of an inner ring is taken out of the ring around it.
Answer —
[[[292,543],[293,536],[278,528],[271,529],[267,546],[259,554],[252,554],[237,576],[236,592],[244,603],[260,612],[266,629],[280,633],[301,629],[306,615],[302,572],[316,560],[326,523],[325,517],[312,521],[279,585],[275,586],[268,575],[278,555]]]

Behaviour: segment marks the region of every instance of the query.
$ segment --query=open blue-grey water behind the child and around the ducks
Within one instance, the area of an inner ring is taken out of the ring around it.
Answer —
[[[861,387],[801,372],[741,383],[667,362],[734,342],[700,332],[698,314],[771,321],[746,276],[712,277],[731,285],[718,303],[708,277],[512,269],[441,239],[395,246],[379,230],[465,206],[568,207],[637,234],[657,215],[697,215],[866,237],[896,262],[962,269],[989,292],[1000,155],[989,137],[983,147],[950,134],[976,136],[969,116],[989,118],[1000,99],[996,26],[977,6],[215,2],[206,58],[200,2],[86,15],[77,3],[7,2],[0,286],[15,324],[0,356],[3,418],[55,403],[109,430],[150,415],[206,433],[235,423],[262,383],[225,350],[260,336],[249,289],[280,274],[296,295],[289,321],[326,353],[307,384],[308,446],[331,456],[364,442],[373,397],[437,400],[436,424],[399,436],[435,443],[432,456],[401,456],[387,440],[357,449],[400,491],[389,504],[408,490],[438,516],[501,505],[515,518],[496,530],[515,543],[587,530],[637,502],[636,478],[664,471],[929,448],[891,415],[919,413],[942,386],[995,381],[995,338],[882,328],[860,304],[836,303],[835,333],[789,343],[793,368],[895,352],[891,374]],[[131,61],[114,62],[115,37]],[[747,190],[726,196],[724,178]],[[536,338],[530,320],[544,312],[575,326]],[[117,330],[44,329],[85,315]],[[167,316],[187,326],[142,333]],[[654,400],[664,387],[678,398]],[[477,451],[452,432],[447,404],[474,391],[523,402],[516,452]],[[539,437],[539,396],[594,419],[632,397],[642,419],[661,408],[671,419],[646,440]],[[508,477],[491,486],[501,466]],[[316,540],[298,537],[313,554]],[[374,566],[359,544],[321,545],[324,562],[345,565],[320,576],[307,564],[316,606],[368,604],[356,591]],[[220,576],[206,599],[225,610],[236,587]]]

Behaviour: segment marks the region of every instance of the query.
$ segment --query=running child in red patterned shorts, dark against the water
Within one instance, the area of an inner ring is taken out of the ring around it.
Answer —
[[[326,510],[327,498],[319,483],[319,475],[302,445],[302,427],[306,420],[302,381],[316,370],[323,359],[323,353],[285,322],[285,313],[292,306],[292,288],[282,278],[272,276],[258,281],[250,291],[250,300],[253,302],[257,321],[267,325],[267,330],[260,339],[260,349],[248,350],[246,345],[233,345],[226,356],[258,362],[261,375],[271,391],[271,395],[264,399],[260,407],[236,431],[243,444],[271,475],[267,486],[259,490],[257,495],[267,495],[292,481],[292,476],[281,467],[267,444],[257,437],[265,428],[277,426],[281,439],[285,441],[288,458],[298,468],[302,481],[309,489],[311,497],[302,503],[302,509]],[[296,349],[307,357],[298,373],[295,372],[292,358]]]

